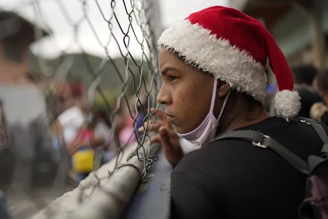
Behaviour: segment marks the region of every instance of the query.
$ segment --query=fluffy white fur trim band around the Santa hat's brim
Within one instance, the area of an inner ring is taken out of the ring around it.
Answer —
[[[239,92],[264,102],[264,66],[248,52],[231,46],[228,39],[217,39],[210,30],[182,20],[166,29],[158,44],[179,53],[186,63],[210,72]]]

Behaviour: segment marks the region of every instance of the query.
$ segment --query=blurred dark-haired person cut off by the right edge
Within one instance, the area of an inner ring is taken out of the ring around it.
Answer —
[[[310,117],[311,119],[328,125],[328,69],[319,71],[317,75],[317,88],[323,100],[313,104]]]

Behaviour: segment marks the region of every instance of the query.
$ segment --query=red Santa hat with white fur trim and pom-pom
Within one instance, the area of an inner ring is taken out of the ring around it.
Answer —
[[[158,43],[260,102],[265,98],[268,59],[279,88],[277,113],[288,119],[300,109],[291,70],[273,36],[259,21],[236,9],[214,6],[192,13],[166,29]]]

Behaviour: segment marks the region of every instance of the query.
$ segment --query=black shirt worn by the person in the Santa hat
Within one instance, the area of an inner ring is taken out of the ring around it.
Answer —
[[[271,117],[239,130],[260,130],[304,160],[323,145],[310,125],[296,120]],[[305,183],[273,150],[219,140],[186,154],[173,170],[172,218],[296,219]]]

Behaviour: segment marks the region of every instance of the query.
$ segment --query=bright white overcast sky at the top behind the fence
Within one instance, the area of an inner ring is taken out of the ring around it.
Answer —
[[[155,0],[156,1],[156,0]],[[86,2],[85,6],[83,2]],[[98,5],[97,5],[98,2]],[[106,49],[111,57],[120,56],[119,47],[126,54],[124,46],[124,34],[119,25],[112,18],[112,32],[119,41],[119,46],[111,37],[108,21],[112,17],[112,9],[109,0],[1,0],[0,7],[13,10],[25,16],[28,20],[37,23],[39,26],[51,29],[53,34],[35,43],[31,49],[34,53],[45,58],[55,58],[61,52],[79,52],[81,49],[95,56],[104,57]],[[136,8],[141,9],[138,0],[126,0],[126,9],[131,11],[131,3],[136,4]],[[227,5],[228,0],[158,0],[160,8],[161,27],[168,27],[178,19],[184,19],[190,13],[214,5]],[[114,7],[120,25],[124,32],[129,28],[128,15],[122,0],[117,0]],[[139,21],[138,11],[135,10]],[[103,15],[102,15],[103,13]],[[142,49],[139,42],[142,42],[143,35],[138,26],[134,14],[131,14],[132,26],[136,36],[129,29],[129,51],[135,57],[140,57]],[[104,16],[104,17],[103,17]],[[86,19],[87,17],[87,19]],[[74,25],[77,27],[75,31]],[[138,41],[137,41],[138,39]],[[125,39],[128,43],[128,39]]]

